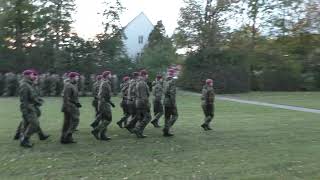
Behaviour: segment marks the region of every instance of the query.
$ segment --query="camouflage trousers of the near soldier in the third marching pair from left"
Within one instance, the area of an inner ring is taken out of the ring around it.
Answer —
[[[112,122],[112,112],[110,104],[99,105],[99,112],[96,117],[96,121],[99,122],[99,124],[94,127],[94,130],[97,130],[100,133],[107,130],[108,125]]]

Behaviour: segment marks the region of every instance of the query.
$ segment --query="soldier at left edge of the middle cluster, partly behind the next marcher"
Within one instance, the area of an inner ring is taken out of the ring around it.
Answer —
[[[123,82],[120,85],[121,95],[122,95],[122,101],[120,103],[120,106],[123,110],[123,117],[120,119],[120,121],[117,122],[117,124],[120,128],[123,128],[124,126],[126,126],[127,119],[130,116],[129,108],[128,108],[129,81],[130,81],[130,78],[128,76],[125,76],[123,78]]]

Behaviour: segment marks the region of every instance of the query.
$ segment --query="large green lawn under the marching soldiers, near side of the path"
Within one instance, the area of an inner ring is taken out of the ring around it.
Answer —
[[[0,179],[320,179],[317,114],[217,101],[214,131],[204,132],[199,96],[186,93],[178,97],[175,137],[148,126],[148,138],[137,139],[115,125],[117,106],[113,139],[100,142],[90,134],[91,98],[81,98],[78,143],[61,145],[61,99],[45,100],[41,125],[52,136],[34,136],[35,147],[23,149],[12,140],[18,99],[0,99]]]

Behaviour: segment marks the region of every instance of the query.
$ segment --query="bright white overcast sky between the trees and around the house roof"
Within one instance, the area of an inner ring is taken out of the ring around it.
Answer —
[[[182,0],[121,0],[127,8],[121,17],[122,26],[127,25],[133,18],[144,12],[153,24],[162,20],[171,35],[177,26]],[[74,30],[83,38],[93,38],[102,32],[102,17],[99,12],[103,11],[103,0],[76,0],[77,12],[74,15]]]

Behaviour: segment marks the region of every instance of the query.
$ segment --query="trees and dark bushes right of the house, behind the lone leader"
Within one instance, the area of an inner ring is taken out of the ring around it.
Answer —
[[[198,91],[211,77],[225,93],[320,88],[320,1],[184,2],[175,33],[189,50],[182,87]]]

